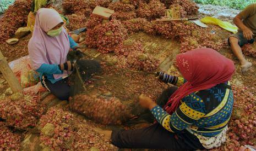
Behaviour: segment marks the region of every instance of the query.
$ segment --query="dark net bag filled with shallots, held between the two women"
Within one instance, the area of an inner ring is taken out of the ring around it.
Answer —
[[[91,95],[84,84],[100,71],[100,63],[97,61],[77,62],[75,72],[70,77],[69,107],[72,111],[83,114],[97,123],[120,125],[131,117],[128,107],[116,97],[104,98]]]

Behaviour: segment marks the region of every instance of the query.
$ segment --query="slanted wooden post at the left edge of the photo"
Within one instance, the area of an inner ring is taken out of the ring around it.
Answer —
[[[10,69],[6,58],[3,56],[2,52],[0,51],[0,71],[3,74],[3,77],[7,80],[10,89],[13,90],[14,93],[20,92],[23,89],[18,82],[18,79],[15,77],[12,69]]]

